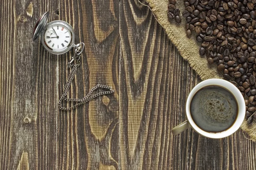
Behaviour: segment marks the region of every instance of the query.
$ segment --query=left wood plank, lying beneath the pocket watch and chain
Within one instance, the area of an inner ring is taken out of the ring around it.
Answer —
[[[3,1],[0,169],[118,168],[118,8],[113,1]],[[68,95],[82,98],[97,83],[113,86],[115,94],[75,111],[58,109],[73,51],[55,56],[32,42],[44,11],[49,21],[70,23],[76,42],[86,45]]]

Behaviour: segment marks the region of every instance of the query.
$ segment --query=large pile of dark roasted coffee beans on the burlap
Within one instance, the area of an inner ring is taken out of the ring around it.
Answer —
[[[197,34],[199,54],[239,88],[247,122],[256,119],[256,0],[184,0],[186,34]],[[253,116],[252,116],[253,115]]]

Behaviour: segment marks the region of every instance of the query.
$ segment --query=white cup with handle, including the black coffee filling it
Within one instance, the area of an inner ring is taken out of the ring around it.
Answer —
[[[177,135],[192,127],[202,136],[230,136],[245,116],[244,97],[235,85],[223,79],[207,79],[196,85],[186,101],[186,120],[172,129]]]

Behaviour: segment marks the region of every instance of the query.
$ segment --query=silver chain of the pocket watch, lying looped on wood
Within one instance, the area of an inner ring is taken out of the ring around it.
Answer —
[[[80,57],[80,56],[79,56]],[[76,64],[71,64],[71,62],[68,63],[67,65],[67,68],[72,68],[71,71],[70,71],[70,74],[67,78],[67,84],[65,85],[64,87],[64,91],[62,93],[62,96],[61,98],[59,99],[58,101],[58,107],[61,109],[61,110],[65,110],[65,111],[70,111],[76,107],[78,107],[79,105],[82,105],[84,104],[85,102],[88,102],[89,100],[97,97],[97,96],[101,96],[101,95],[104,95],[104,94],[111,94],[114,92],[114,90],[112,89],[111,86],[108,86],[108,85],[96,85],[94,86],[93,88],[90,89],[89,93],[83,98],[83,99],[70,99],[70,98],[66,98],[67,96],[67,92],[70,88],[70,85],[75,77],[75,74],[76,74],[76,71],[77,71],[77,68],[79,67],[80,65],[80,61],[77,61]],[[108,89],[108,91],[102,91],[102,92],[99,92],[97,94],[94,94],[92,95],[93,91],[96,91],[98,88],[102,88],[102,89]],[[72,107],[70,108],[65,108],[61,105],[62,101],[71,101],[71,102],[78,102],[76,103],[76,105],[73,105]]]

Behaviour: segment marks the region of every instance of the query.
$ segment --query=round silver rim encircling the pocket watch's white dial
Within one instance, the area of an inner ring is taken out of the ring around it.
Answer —
[[[70,33],[71,33],[71,41],[69,43],[69,45],[67,45],[66,48],[61,49],[61,50],[55,50],[52,48],[49,48],[49,46],[46,44],[46,40],[45,40],[45,31],[47,30],[48,27],[52,27],[56,24],[60,24],[63,25],[65,27],[67,27],[67,29],[69,29]],[[61,21],[61,20],[55,20],[52,21],[50,23],[47,24],[47,26],[45,27],[44,31],[41,34],[41,43],[43,44],[44,48],[51,54],[65,54],[68,51],[70,51],[70,49],[74,46],[75,44],[75,31],[73,29],[72,26],[70,26],[69,23],[65,22],[65,21]]]

